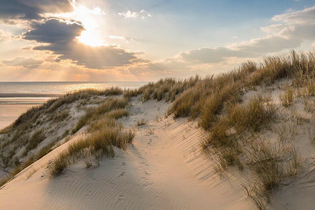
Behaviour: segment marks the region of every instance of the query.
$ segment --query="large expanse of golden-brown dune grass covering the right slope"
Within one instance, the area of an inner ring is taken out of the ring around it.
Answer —
[[[207,131],[200,142],[200,147],[209,158],[215,159],[213,168],[219,175],[222,175],[230,165],[238,166],[239,170],[243,170],[246,166],[247,170],[252,172],[256,182],[260,183],[259,186],[255,184],[260,191],[256,189],[258,193],[255,196],[249,194],[249,197],[258,208],[263,209],[271,195],[266,191],[274,191],[278,188],[278,183],[292,178],[292,174],[297,174],[301,168],[302,159],[297,153],[291,152],[291,156],[295,157],[292,158],[294,163],[284,161],[285,164],[283,164],[283,161],[274,161],[273,156],[281,156],[281,151],[275,150],[272,144],[266,144],[266,151],[269,151],[269,158],[273,161],[264,162],[258,152],[253,153],[252,158],[253,161],[256,158],[255,161],[262,165],[244,162],[243,159],[249,154],[242,148],[248,142],[260,141],[255,137],[255,133],[270,129],[270,125],[278,118],[276,114],[278,108],[271,102],[269,96],[263,96],[261,93],[243,103],[242,95],[246,91],[255,90],[257,86],[272,85],[279,79],[291,79],[293,86],[285,88],[279,95],[281,104],[286,108],[292,104],[296,96],[295,88],[303,90],[300,97],[314,95],[315,86],[312,82],[314,73],[314,52],[296,53],[292,50],[289,54],[265,56],[258,63],[248,61],[228,73],[198,78],[194,85],[186,88],[182,94],[173,99],[174,102],[167,111],[167,115],[171,115],[174,119],[179,117],[198,119],[198,125]],[[305,109],[311,111],[308,105],[311,102],[304,99],[304,104]],[[281,142],[286,143],[292,139],[297,133],[297,124],[301,125],[304,122],[297,118],[295,120],[294,125],[289,124],[289,134],[282,135]],[[253,135],[254,138],[250,137]],[[310,136],[312,139],[312,134]],[[272,148],[273,153],[270,151]],[[251,180],[251,184],[253,183],[254,181]]]

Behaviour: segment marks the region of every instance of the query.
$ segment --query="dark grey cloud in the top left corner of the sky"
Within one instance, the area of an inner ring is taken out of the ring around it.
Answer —
[[[71,12],[68,0],[10,0],[1,1],[0,20],[7,24],[18,24],[19,20],[41,20],[45,13]]]

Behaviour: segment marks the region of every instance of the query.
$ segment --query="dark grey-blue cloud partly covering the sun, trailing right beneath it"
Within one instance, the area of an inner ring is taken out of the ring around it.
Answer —
[[[93,69],[124,66],[131,64],[136,55],[143,51],[126,51],[117,46],[92,47],[81,43],[76,37],[85,29],[76,22],[49,19],[44,23],[33,25],[33,29],[23,33],[24,39],[42,43],[33,50],[49,50],[60,55],[62,60],[70,59],[78,65]]]

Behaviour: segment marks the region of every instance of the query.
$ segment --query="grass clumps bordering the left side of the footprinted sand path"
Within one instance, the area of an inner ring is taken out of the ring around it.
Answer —
[[[127,149],[128,145],[133,142],[135,131],[123,130],[122,121],[117,122],[116,120],[129,116],[129,111],[125,108],[129,96],[106,98],[99,106],[89,107],[86,110],[86,113],[72,129],[72,134],[88,125],[88,136],[69,144],[66,150],[55,156],[49,166],[49,177],[57,176],[63,169],[75,163],[78,158],[85,158],[99,152],[107,157],[113,157],[113,146],[123,150]],[[87,168],[91,167],[90,160],[85,159],[84,162]]]

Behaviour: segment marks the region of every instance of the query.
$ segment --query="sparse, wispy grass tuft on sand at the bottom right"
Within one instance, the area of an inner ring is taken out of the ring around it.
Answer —
[[[266,203],[271,203],[271,196],[279,185],[295,178],[305,161],[295,148],[281,143],[278,146],[269,144],[259,140],[251,143],[247,155],[251,178],[244,176],[248,184],[242,184],[258,209],[266,209]]]

